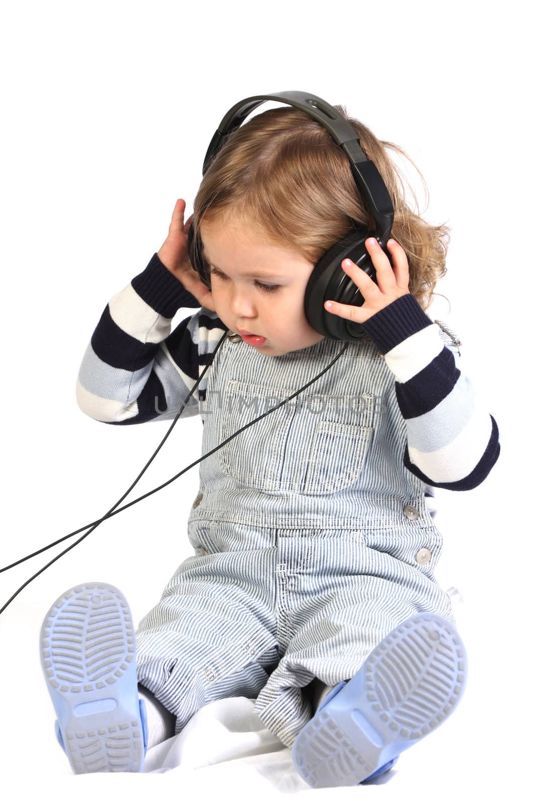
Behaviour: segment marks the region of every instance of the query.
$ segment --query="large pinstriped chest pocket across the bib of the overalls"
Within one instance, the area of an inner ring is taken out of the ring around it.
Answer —
[[[229,381],[219,442],[296,389]],[[374,436],[372,393],[299,394],[220,448],[223,472],[264,492],[330,494],[357,481]]]

